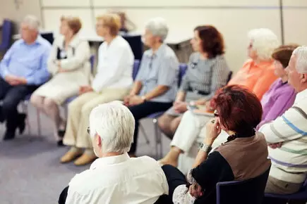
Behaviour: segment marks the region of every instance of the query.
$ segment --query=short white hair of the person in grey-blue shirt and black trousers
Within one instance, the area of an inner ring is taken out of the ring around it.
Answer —
[[[160,37],[162,42],[167,38],[167,33],[169,32],[166,20],[160,17],[148,20],[145,29],[149,30],[153,36]]]

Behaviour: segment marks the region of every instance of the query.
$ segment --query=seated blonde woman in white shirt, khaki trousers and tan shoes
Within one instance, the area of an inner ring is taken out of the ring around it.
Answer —
[[[118,35],[120,27],[120,18],[114,13],[97,18],[97,34],[104,37],[98,51],[97,75],[91,86],[80,87],[80,96],[68,105],[64,144],[71,149],[61,158],[63,163],[80,155],[75,165],[95,160],[87,129],[90,111],[100,103],[123,100],[131,89],[134,56],[128,42]]]

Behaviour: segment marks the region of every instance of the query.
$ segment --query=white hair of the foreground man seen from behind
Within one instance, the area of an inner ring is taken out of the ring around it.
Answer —
[[[104,103],[90,113],[90,136],[102,139],[102,152],[125,153],[133,143],[135,120],[119,101]]]

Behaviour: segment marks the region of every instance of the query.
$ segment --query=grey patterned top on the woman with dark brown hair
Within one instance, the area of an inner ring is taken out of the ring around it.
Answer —
[[[209,100],[215,95],[217,89],[227,84],[229,72],[224,56],[201,59],[200,53],[192,53],[180,89],[184,92],[202,91],[207,93],[203,98]]]

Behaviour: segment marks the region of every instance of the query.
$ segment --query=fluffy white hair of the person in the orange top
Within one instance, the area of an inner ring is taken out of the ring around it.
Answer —
[[[251,30],[248,39],[252,41],[252,49],[257,52],[259,60],[270,60],[273,51],[279,46],[276,34],[267,28]]]

